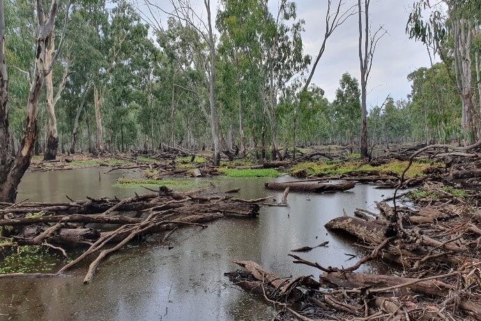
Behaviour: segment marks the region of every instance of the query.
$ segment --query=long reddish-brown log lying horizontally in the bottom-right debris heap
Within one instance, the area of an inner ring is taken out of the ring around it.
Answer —
[[[342,287],[342,288],[365,288],[370,286],[371,289],[387,288],[393,285],[401,285],[415,281],[415,278],[403,278],[401,276],[379,275],[379,274],[361,274],[353,272],[333,272],[324,273],[320,276],[320,282],[323,285]],[[399,289],[400,294],[409,294],[416,292],[429,296],[445,297],[451,286],[438,280],[420,281]],[[391,291],[392,292],[392,291]]]

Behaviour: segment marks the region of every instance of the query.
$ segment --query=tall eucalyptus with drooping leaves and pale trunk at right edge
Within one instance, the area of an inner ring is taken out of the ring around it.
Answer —
[[[475,107],[476,94],[473,90],[473,83],[477,82],[473,79],[474,75],[480,75],[479,50],[476,46],[473,48],[473,38],[478,37],[480,25],[480,1],[443,0],[433,5],[427,1],[415,1],[406,27],[411,38],[432,46],[450,71],[461,98],[464,144],[481,135],[480,112]],[[478,87],[478,96],[480,94]]]

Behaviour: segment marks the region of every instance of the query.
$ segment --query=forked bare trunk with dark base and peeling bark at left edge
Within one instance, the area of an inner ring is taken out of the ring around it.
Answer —
[[[17,197],[17,186],[20,184],[26,169],[30,165],[33,147],[37,137],[37,116],[38,99],[43,88],[45,77],[52,72],[57,51],[52,57],[52,61],[47,64],[48,39],[54,29],[55,17],[58,10],[59,1],[52,0],[49,13],[45,16],[43,11],[43,0],[36,1],[38,19],[38,38],[36,45],[35,70],[31,81],[29,96],[26,103],[25,130],[22,143],[16,156],[12,156],[10,150],[10,128],[8,126],[8,78],[6,73],[5,61],[5,19],[3,14],[3,0],[0,0],[0,201],[15,202]],[[70,6],[70,4],[69,4]],[[66,22],[68,20],[68,9]],[[59,45],[63,43],[65,26]]]

